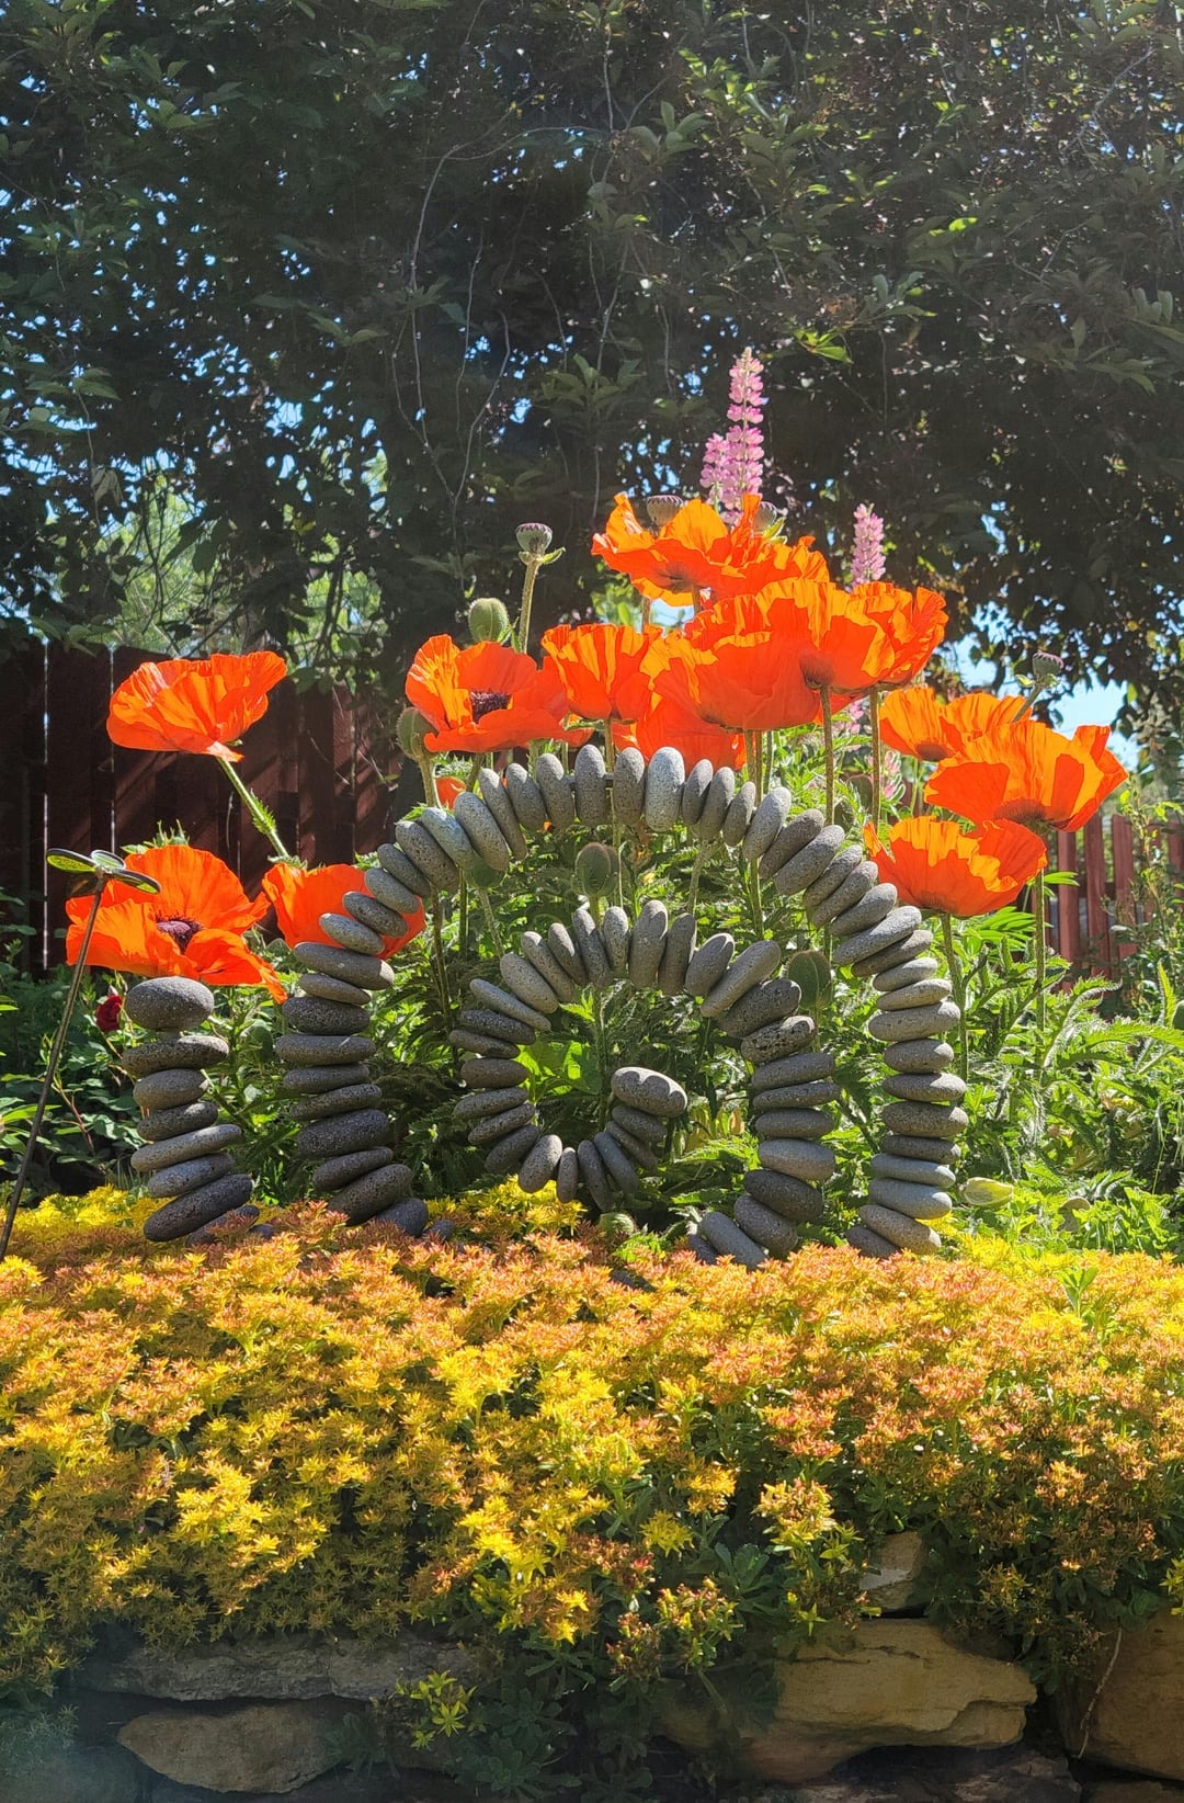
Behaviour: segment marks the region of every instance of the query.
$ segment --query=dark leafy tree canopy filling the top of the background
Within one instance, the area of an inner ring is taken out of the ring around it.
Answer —
[[[791,526],[1166,694],[1182,76],[1166,0],[13,0],[9,629],[393,671],[523,519],[560,611],[753,344]]]

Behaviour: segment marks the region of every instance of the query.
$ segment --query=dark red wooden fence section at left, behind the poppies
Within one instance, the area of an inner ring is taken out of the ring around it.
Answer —
[[[61,961],[67,878],[47,873],[50,846],[117,851],[180,824],[216,851],[250,894],[272,847],[250,824],[213,757],[128,752],[106,736],[112,689],[146,653],[27,645],[0,664],[0,902],[27,920],[27,965]],[[351,862],[386,837],[396,766],[384,723],[344,692],[290,682],[243,741],[241,775],[272,810],[285,846],[310,864]],[[2,930],[2,929],[0,929]]]

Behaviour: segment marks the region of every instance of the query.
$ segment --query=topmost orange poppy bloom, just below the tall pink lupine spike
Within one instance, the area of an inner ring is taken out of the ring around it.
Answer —
[[[791,572],[825,575],[813,539],[784,545],[755,528],[760,498],[746,494],[741,517],[728,526],[706,501],[685,501],[669,525],[647,532],[627,494],[616,496],[593,552],[620,570],[651,600],[687,602],[696,595],[751,595]]]

